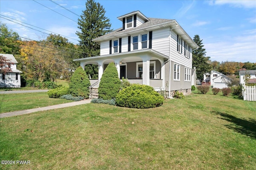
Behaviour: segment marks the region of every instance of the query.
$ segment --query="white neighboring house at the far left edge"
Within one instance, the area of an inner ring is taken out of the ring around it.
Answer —
[[[10,64],[7,64],[12,72],[6,74],[0,74],[0,87],[20,87],[20,70],[17,70],[16,64],[18,63],[12,54],[0,54],[10,60]]]

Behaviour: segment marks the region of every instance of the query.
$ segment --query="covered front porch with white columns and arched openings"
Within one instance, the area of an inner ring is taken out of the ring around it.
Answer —
[[[109,63],[114,63],[118,76],[127,78],[129,82],[152,86],[155,90],[164,90],[164,62],[169,57],[152,49],[116,53],[98,57],[77,59],[80,66],[86,64],[98,65],[98,80],[90,80],[92,86],[97,87],[102,74]]]

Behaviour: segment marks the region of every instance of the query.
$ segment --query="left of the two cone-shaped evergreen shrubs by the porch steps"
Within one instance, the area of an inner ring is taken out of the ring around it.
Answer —
[[[76,68],[74,74],[70,79],[70,94],[72,94],[72,96],[81,96],[85,99],[88,99],[89,86],[90,80],[87,77],[84,69],[81,66],[79,66],[78,68]]]

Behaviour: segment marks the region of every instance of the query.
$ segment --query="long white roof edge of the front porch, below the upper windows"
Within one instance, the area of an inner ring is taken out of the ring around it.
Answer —
[[[168,60],[169,57],[166,55],[163,55],[162,53],[159,53],[155,50],[152,49],[143,49],[143,50],[136,50],[136,51],[129,51],[129,52],[124,52],[124,53],[115,53],[115,54],[110,54],[110,55],[100,55],[96,57],[87,57],[87,58],[82,58],[82,59],[74,59],[73,61],[95,61],[95,60],[102,60],[102,59],[114,59],[116,57],[130,57],[134,55],[143,55],[145,53],[150,53],[151,55],[154,55],[157,58],[162,58],[165,60]]]

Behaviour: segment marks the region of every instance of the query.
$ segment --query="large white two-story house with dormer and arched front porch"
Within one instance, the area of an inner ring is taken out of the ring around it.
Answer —
[[[176,20],[148,18],[140,11],[118,17],[122,27],[93,39],[100,56],[76,59],[84,68],[97,64],[100,80],[106,66],[116,64],[118,75],[155,90],[190,92],[192,50],[198,48]],[[95,82],[95,81],[94,81]],[[91,80],[91,84],[94,83]]]

